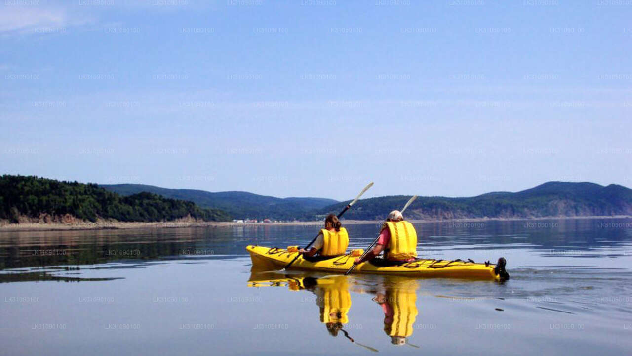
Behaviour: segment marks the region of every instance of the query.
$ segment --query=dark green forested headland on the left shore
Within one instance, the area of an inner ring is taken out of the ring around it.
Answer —
[[[158,194],[138,193],[121,196],[97,184],[59,182],[29,175],[0,177],[0,219],[95,220],[125,222],[171,221],[193,218],[226,221],[230,216],[218,209],[200,208],[191,201],[165,198]]]

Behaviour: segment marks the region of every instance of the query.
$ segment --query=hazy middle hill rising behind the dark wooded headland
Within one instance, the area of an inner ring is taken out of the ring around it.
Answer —
[[[224,210],[235,219],[291,220],[338,203],[337,200],[327,198],[275,198],[245,191],[211,193],[194,189],[166,189],[142,184],[114,184],[100,185],[100,187],[121,195],[145,191],[167,198],[189,200],[203,208]]]

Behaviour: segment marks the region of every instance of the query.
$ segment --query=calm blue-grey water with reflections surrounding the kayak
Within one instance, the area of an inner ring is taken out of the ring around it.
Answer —
[[[250,272],[246,245],[304,245],[313,226],[0,232],[0,353],[632,350],[632,219],[416,227],[420,255],[506,257],[511,279]],[[347,228],[354,247],[378,229]]]

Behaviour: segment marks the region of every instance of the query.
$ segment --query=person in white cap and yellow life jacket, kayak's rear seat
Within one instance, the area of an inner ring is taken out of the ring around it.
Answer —
[[[417,257],[417,232],[413,224],[404,220],[399,210],[389,213],[373,250],[368,251],[364,258],[356,258],[353,264],[372,260],[382,251],[384,251],[384,263],[387,265],[412,262]]]

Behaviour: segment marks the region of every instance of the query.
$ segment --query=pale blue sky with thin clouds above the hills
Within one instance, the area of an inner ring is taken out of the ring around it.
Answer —
[[[274,196],[632,186],[629,1],[7,0],[8,174]]]

